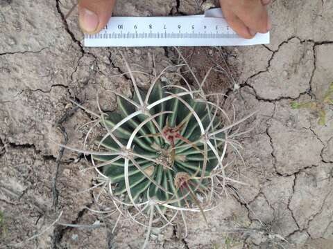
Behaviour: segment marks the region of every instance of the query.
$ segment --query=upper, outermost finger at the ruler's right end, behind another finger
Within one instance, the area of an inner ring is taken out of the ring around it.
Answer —
[[[222,0],[221,0],[222,1]],[[266,6],[263,0],[223,0],[228,8],[237,15],[251,30],[267,33],[270,27]],[[265,2],[266,3],[266,2]]]

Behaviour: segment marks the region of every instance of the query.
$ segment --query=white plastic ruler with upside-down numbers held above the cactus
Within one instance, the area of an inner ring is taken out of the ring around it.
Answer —
[[[239,37],[220,8],[205,15],[181,17],[112,17],[96,35],[85,35],[85,46],[245,46],[269,44],[269,33]]]

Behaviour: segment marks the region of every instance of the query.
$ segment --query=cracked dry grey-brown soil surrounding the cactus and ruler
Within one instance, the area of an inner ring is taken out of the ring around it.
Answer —
[[[82,155],[59,150],[51,140],[80,147],[92,120],[69,99],[96,109],[116,108],[108,90],[132,95],[116,48],[85,48],[77,13],[65,19],[74,0],[0,0],[0,248],[11,248],[53,223],[101,225],[77,229],[55,225],[22,248],[140,248],[144,228],[117,217],[101,219],[85,207],[96,205],[96,181]],[[216,1],[122,1],[115,15],[187,15]],[[333,110],[317,124],[313,111],[293,110],[291,101],[321,100],[333,82],[333,1],[275,0],[271,44],[243,48],[182,49],[199,77],[210,67],[229,65],[240,88],[214,71],[207,92],[228,95],[223,107],[237,119],[252,111],[254,127],[241,137],[241,164],[230,170],[250,186],[228,186],[228,199],[207,214],[187,217],[189,234],[177,225],[153,234],[150,248],[333,248]],[[173,48],[123,49],[133,70],[152,73],[175,64]],[[153,61],[155,58],[155,61]],[[205,66],[202,66],[205,65]],[[146,88],[150,77],[136,75]],[[173,79],[170,79],[173,80]],[[81,192],[80,194],[76,194]],[[128,236],[130,234],[130,236]],[[228,247],[229,246],[229,247]]]

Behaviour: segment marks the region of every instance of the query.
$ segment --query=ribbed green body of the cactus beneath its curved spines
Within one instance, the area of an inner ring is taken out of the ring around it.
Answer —
[[[148,107],[153,106],[149,109],[149,115],[141,113],[113,132],[117,140],[126,147],[133,131],[149,116],[155,115],[154,120],[149,120],[137,131],[130,146],[133,154],[139,155],[134,155],[133,160],[128,160],[128,183],[135,203],[155,199],[170,201],[170,205],[178,207],[188,205],[195,201],[194,194],[189,192],[205,192],[209,178],[203,176],[210,176],[213,169],[219,165],[215,152],[220,153],[223,139],[207,138],[216,147],[216,151],[207,146],[205,149],[202,128],[210,132],[216,131],[221,126],[221,120],[213,117],[213,107],[194,100],[190,94],[180,96],[180,92],[174,88],[166,91],[161,83],[155,84],[148,98]],[[140,93],[142,98],[146,97],[147,93]],[[167,96],[171,98],[156,104]],[[137,95],[133,101],[139,105]],[[135,111],[138,110],[133,103],[119,97],[117,111],[109,113],[101,123],[110,131]],[[200,122],[197,118],[200,118]],[[216,136],[223,138],[221,133],[217,133]],[[106,151],[120,151],[123,148],[119,142],[108,136],[100,141],[100,145]],[[125,179],[126,159],[119,158],[114,161],[117,156],[96,155],[92,158],[103,164],[99,170],[110,179],[114,196],[128,196]],[[108,164],[110,161],[112,163]],[[184,181],[180,176],[187,176],[189,179]],[[186,197],[182,199],[181,196]],[[172,201],[177,198],[178,201]],[[128,197],[125,200],[130,203]]]

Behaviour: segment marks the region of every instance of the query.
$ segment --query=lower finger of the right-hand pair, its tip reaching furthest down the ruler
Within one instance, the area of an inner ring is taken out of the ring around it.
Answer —
[[[230,10],[228,4],[225,1],[221,0],[221,8],[225,20],[228,22],[230,27],[241,37],[246,39],[253,38],[256,34],[254,30],[250,30],[237,15],[234,15],[234,12]]]

